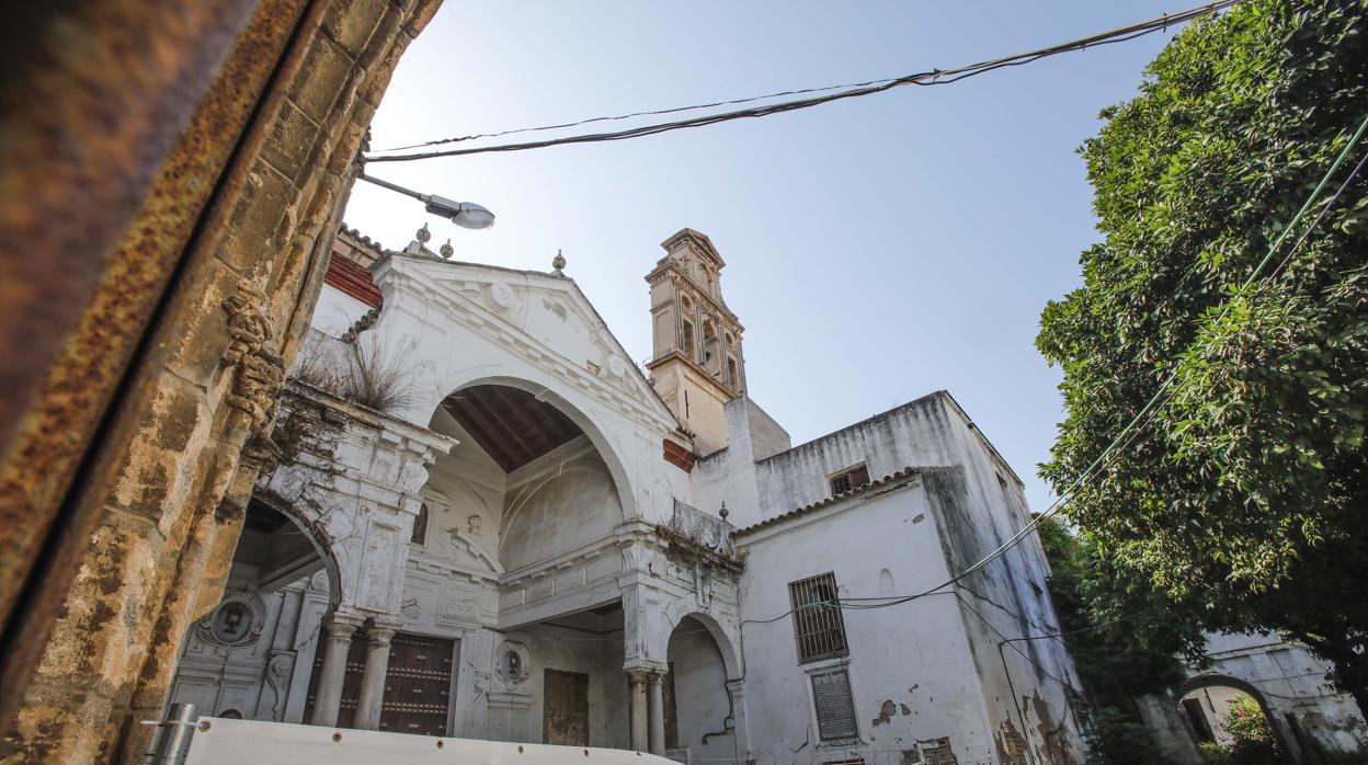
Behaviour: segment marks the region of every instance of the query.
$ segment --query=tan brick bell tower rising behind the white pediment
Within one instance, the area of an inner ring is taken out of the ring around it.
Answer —
[[[726,263],[706,234],[681,229],[646,276],[655,353],[651,385],[685,428],[699,456],[726,446],[722,405],[746,390],[744,328],[722,300]]]

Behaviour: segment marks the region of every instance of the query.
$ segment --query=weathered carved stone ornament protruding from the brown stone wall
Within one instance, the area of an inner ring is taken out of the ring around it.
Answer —
[[[267,304],[265,293],[248,279],[239,281],[238,291],[223,301],[230,338],[223,361],[237,367],[226,401],[246,419],[250,434],[271,420],[285,383],[285,361],[269,348],[275,320]]]

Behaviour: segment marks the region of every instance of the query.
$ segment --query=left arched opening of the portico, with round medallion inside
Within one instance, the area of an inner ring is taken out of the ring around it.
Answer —
[[[219,604],[185,636],[170,702],[200,714],[301,723],[338,568],[302,520],[253,497]]]

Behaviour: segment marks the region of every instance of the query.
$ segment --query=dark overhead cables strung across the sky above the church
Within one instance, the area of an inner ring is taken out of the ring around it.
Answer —
[[[1088,36],[1088,37],[1081,37],[1078,40],[1071,40],[1068,42],[1060,42],[1060,44],[1056,44],[1056,45],[1051,45],[1048,48],[1040,48],[1040,49],[1036,49],[1036,51],[1027,51],[1025,53],[1014,53],[1014,55],[1010,55],[1010,56],[1003,56],[1003,57],[999,57],[999,59],[992,59],[992,60],[988,60],[988,62],[979,62],[979,63],[975,63],[975,64],[967,64],[967,66],[948,68],[948,70],[930,70],[930,71],[923,71],[923,73],[917,73],[917,74],[908,74],[908,75],[896,77],[896,78],[873,79],[873,81],[869,81],[869,82],[862,82],[862,83],[855,83],[855,85],[832,85],[832,86],[826,86],[826,88],[808,88],[808,89],[800,89],[800,90],[785,90],[785,92],[781,92],[781,93],[772,93],[769,96],[752,96],[752,97],[748,97],[748,99],[736,99],[736,100],[731,100],[731,101],[715,101],[713,104],[699,104],[699,105],[694,105],[694,107],[676,107],[676,108],[658,109],[658,111],[642,111],[642,112],[632,112],[632,114],[624,114],[624,115],[617,115],[617,116],[596,116],[596,118],[591,118],[591,119],[581,119],[581,120],[577,120],[577,122],[566,122],[566,123],[561,123],[561,125],[547,125],[547,126],[542,126],[542,127],[521,127],[521,129],[516,129],[516,130],[503,130],[501,133],[484,133],[484,134],[477,134],[477,135],[461,135],[461,137],[451,137],[451,138],[440,138],[440,140],[436,140],[436,141],[427,141],[424,144],[413,144],[410,146],[402,146],[399,149],[393,149],[393,151],[405,151],[405,149],[420,148],[420,146],[435,146],[435,145],[443,145],[443,144],[454,144],[454,142],[460,142],[460,141],[471,141],[471,140],[475,140],[475,138],[494,138],[494,137],[499,137],[499,135],[510,135],[510,134],[514,134],[514,133],[532,133],[532,131],[540,131],[540,130],[558,130],[558,129],[565,129],[565,127],[576,127],[576,126],[580,126],[580,125],[588,125],[588,123],[594,123],[594,122],[621,120],[621,119],[629,119],[629,118],[635,118],[635,116],[674,114],[674,112],[684,112],[684,111],[694,111],[694,109],[702,109],[702,108],[720,107],[720,105],[744,104],[744,103],[759,101],[759,100],[766,100],[766,99],[774,99],[774,97],[781,97],[781,96],[792,96],[792,94],[799,94],[799,93],[825,93],[828,90],[837,90],[834,93],[825,93],[822,96],[813,96],[810,99],[800,99],[800,100],[795,100],[795,101],[782,101],[782,103],[778,103],[778,104],[766,104],[766,105],[761,105],[761,107],[750,107],[750,108],[735,109],[735,111],[729,111],[729,112],[702,115],[702,116],[689,118],[689,119],[681,119],[681,120],[677,120],[677,122],[666,122],[666,123],[658,123],[658,125],[646,125],[646,126],[632,127],[632,129],[628,129],[628,130],[620,130],[620,131],[613,131],[613,133],[590,133],[590,134],[584,134],[584,135],[569,135],[569,137],[562,137],[562,138],[547,138],[547,140],[543,140],[543,141],[528,141],[528,142],[523,142],[523,144],[501,144],[501,145],[494,145],[494,146],[440,149],[440,151],[417,152],[417,153],[406,153],[406,155],[368,155],[365,159],[367,159],[367,161],[413,161],[413,160],[421,160],[421,159],[466,156],[466,155],[480,155],[480,153],[491,153],[491,152],[523,152],[523,151],[528,151],[528,149],[542,149],[542,148],[547,148],[547,146],[558,146],[558,145],[562,145],[562,144],[591,144],[591,142],[603,142],[603,141],[625,141],[628,138],[640,138],[640,137],[644,137],[644,135],[655,135],[658,133],[669,133],[669,131],[673,131],[673,130],[684,130],[684,129],[689,129],[689,127],[703,127],[703,126],[707,126],[707,125],[717,125],[720,122],[731,122],[733,119],[761,118],[761,116],[769,116],[769,115],[774,115],[774,114],[784,114],[784,112],[791,112],[791,111],[798,111],[798,109],[806,109],[806,108],[817,107],[817,105],[821,105],[821,104],[829,104],[832,101],[840,101],[840,100],[844,100],[844,99],[855,99],[855,97],[862,97],[862,96],[873,96],[876,93],[882,93],[882,92],[891,90],[893,88],[902,88],[904,85],[922,85],[922,86],[949,85],[952,82],[959,82],[960,79],[967,79],[970,77],[977,77],[979,74],[985,74],[985,73],[995,71],[995,70],[999,70],[999,68],[1016,67],[1016,66],[1022,66],[1022,64],[1029,64],[1029,63],[1037,62],[1040,59],[1045,59],[1045,57],[1049,57],[1049,56],[1056,56],[1059,53],[1067,53],[1067,52],[1073,52],[1073,51],[1083,51],[1083,49],[1088,49],[1088,48],[1096,48],[1099,45],[1109,45],[1109,44],[1114,44],[1114,42],[1124,42],[1127,40],[1134,40],[1137,37],[1144,37],[1146,34],[1153,34],[1156,31],[1164,31],[1164,30],[1167,30],[1171,26],[1181,25],[1181,23],[1189,22],[1192,19],[1196,19],[1196,18],[1200,18],[1200,16],[1204,16],[1204,15],[1208,15],[1208,14],[1213,14],[1216,11],[1228,8],[1231,5],[1237,5],[1237,4],[1242,3],[1242,1],[1244,0],[1216,0],[1213,3],[1207,3],[1204,5],[1197,5],[1197,7],[1189,8],[1186,11],[1179,11],[1176,14],[1167,14],[1167,15],[1163,15],[1163,16],[1156,16],[1153,19],[1148,19],[1148,21],[1144,21],[1144,22],[1133,23],[1133,25],[1129,25],[1129,26],[1123,26],[1123,27],[1119,27],[1119,29],[1109,30],[1109,31],[1101,31],[1101,33],[1092,34],[1092,36]]]

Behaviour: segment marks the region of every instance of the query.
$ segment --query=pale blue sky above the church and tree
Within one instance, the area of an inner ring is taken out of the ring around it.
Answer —
[[[1185,7],[446,0],[399,63],[371,145],[948,68]],[[1040,312],[1081,283],[1078,255],[1099,239],[1077,148],[1167,37],[631,141],[372,164],[498,222],[462,230],[367,183],[345,219],[391,249],[427,222],[434,249],[450,238],[473,263],[549,271],[562,250],[637,361],[653,350],[644,276],[659,242],[703,231],[746,327],[750,394],[795,445],[944,389],[1041,510],[1052,494],[1037,465],[1063,406],[1060,372],[1034,346]],[[536,137],[549,134],[521,138]]]

